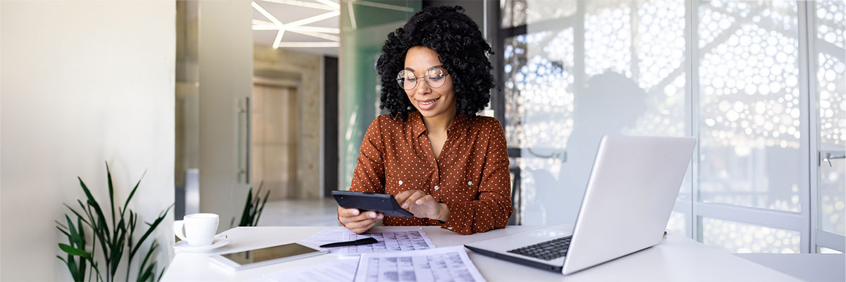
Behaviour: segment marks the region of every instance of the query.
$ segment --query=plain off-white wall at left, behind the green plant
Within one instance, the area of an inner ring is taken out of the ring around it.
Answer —
[[[173,1],[0,2],[0,280],[70,280],[53,221],[77,176],[107,202],[104,161],[118,199],[146,171],[139,221],[173,203],[174,26]]]

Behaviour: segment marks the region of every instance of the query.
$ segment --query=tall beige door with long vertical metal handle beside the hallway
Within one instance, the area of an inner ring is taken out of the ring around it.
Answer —
[[[218,231],[240,218],[250,187],[246,146],[253,86],[249,1],[200,1],[200,212],[220,215]]]

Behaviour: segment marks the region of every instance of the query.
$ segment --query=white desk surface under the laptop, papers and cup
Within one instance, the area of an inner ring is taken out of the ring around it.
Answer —
[[[223,234],[232,240],[214,252],[178,252],[162,281],[261,281],[261,275],[285,268],[320,263],[336,255],[309,257],[261,268],[228,272],[212,264],[211,254],[239,252],[252,248],[301,241],[317,231],[335,227],[239,227]],[[340,227],[338,227],[340,228]],[[417,229],[420,227],[390,227]],[[473,241],[539,229],[541,226],[508,226],[476,235],[458,235],[435,226],[422,227],[436,246],[457,246]],[[508,263],[467,251],[470,259],[489,281],[797,281],[787,274],[752,263],[684,236],[668,235],[661,244],[626,257],[564,276],[516,263]]]

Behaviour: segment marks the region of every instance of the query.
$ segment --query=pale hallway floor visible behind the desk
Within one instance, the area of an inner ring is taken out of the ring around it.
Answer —
[[[332,198],[267,202],[259,226],[340,226]]]

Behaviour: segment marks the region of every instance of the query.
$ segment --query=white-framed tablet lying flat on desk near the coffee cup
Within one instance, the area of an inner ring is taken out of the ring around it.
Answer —
[[[312,257],[329,252],[317,246],[306,243],[291,243],[279,246],[248,250],[244,252],[230,252],[211,257],[211,261],[228,268],[231,271],[255,268],[272,263],[283,263],[299,258]]]

